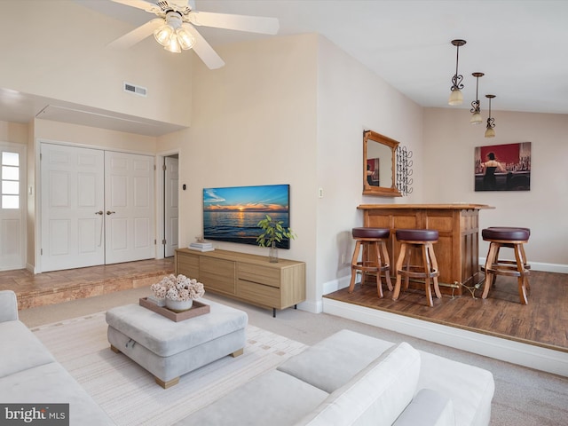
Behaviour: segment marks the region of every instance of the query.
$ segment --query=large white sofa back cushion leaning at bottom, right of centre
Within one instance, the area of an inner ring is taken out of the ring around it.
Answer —
[[[414,396],[420,364],[419,352],[406,342],[399,343],[335,390],[296,426],[390,426]]]

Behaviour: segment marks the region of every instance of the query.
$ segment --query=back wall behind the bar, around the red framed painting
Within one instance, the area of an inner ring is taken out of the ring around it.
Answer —
[[[495,209],[480,212],[480,228],[526,226],[529,262],[539,269],[568,272],[568,116],[492,111],[495,138],[485,126],[469,124],[469,110],[426,108],[423,199],[428,202],[475,202]],[[532,143],[531,190],[474,191],[474,148]],[[488,246],[480,241],[479,255]],[[512,258],[512,253],[508,253]]]

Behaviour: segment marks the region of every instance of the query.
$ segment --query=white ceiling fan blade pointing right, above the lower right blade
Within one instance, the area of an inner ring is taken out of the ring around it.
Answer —
[[[227,13],[190,12],[189,21],[203,27],[235,29],[250,33],[276,34],[280,23],[276,18],[262,16],[231,15]]]

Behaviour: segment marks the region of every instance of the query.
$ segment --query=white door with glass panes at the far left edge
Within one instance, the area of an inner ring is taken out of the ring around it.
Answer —
[[[0,142],[0,271],[26,265],[26,146]]]

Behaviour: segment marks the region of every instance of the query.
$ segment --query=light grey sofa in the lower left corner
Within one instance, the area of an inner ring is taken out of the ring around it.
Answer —
[[[69,404],[69,424],[106,426],[114,422],[28,327],[18,320],[13,291],[0,291],[0,403]]]

